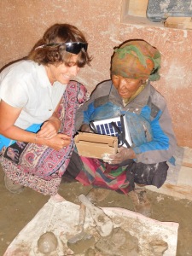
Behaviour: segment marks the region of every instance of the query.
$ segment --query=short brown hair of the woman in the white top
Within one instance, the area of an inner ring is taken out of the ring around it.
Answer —
[[[60,45],[60,43],[69,42],[87,43],[84,34],[80,32],[76,26],[70,24],[55,24],[50,26],[49,29],[44,32],[44,37],[38,40],[38,43],[34,45],[27,59],[45,66],[60,63],[65,63],[66,66],[70,66],[70,59],[73,54],[67,52],[65,47]],[[41,47],[44,44],[52,45]],[[88,53],[82,48],[79,52],[77,66],[84,67],[85,64],[90,65],[91,59]]]

